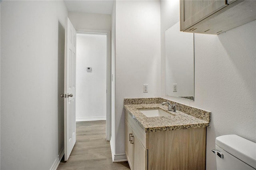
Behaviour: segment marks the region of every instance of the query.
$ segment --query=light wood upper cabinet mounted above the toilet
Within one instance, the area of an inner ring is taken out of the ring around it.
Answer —
[[[180,0],[180,31],[220,34],[256,20],[256,0]]]

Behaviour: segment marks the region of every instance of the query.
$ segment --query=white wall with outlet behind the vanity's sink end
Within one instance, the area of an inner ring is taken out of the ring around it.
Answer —
[[[160,96],[160,1],[116,1],[115,154],[124,154],[125,97]],[[143,93],[148,84],[148,93]],[[124,156],[125,157],[125,156]]]

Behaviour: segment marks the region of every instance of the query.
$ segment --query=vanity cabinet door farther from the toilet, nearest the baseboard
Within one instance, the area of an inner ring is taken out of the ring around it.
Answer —
[[[133,142],[132,139],[132,128],[129,123],[125,120],[125,154],[128,160],[131,170],[133,170]]]

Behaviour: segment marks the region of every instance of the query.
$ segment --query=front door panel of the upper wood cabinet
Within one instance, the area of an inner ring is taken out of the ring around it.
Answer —
[[[180,31],[186,30],[227,5],[226,0],[180,0]]]

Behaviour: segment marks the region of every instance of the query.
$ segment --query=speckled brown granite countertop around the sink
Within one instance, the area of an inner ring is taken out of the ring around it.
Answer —
[[[209,126],[209,121],[198,119],[178,110],[176,112],[168,111],[168,107],[162,106],[161,104],[124,105],[124,108],[145,132],[204,128]],[[154,108],[160,108],[167,111],[172,116],[146,117],[138,110]]]

